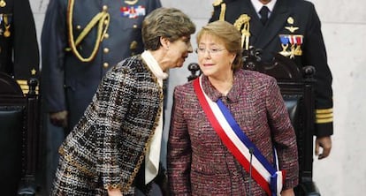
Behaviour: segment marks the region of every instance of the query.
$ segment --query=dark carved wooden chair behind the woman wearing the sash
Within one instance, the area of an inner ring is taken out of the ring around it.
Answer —
[[[295,188],[297,196],[320,195],[313,181],[313,132],[315,119],[315,93],[313,66],[298,67],[290,59],[276,55],[271,64],[263,64],[261,50],[250,48],[243,52],[243,68],[271,75],[278,81],[291,122],[296,132],[299,155],[300,183]],[[188,80],[200,74],[198,64],[188,64],[191,75]]]

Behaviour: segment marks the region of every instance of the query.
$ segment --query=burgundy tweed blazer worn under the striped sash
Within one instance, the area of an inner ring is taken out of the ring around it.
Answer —
[[[281,170],[286,170],[284,189],[298,184],[298,160],[294,128],[276,80],[259,72],[235,72],[233,88],[222,96],[207,77],[203,90],[214,102],[222,99],[248,139],[273,162],[278,151]],[[173,195],[248,195],[248,172],[222,143],[194,93],[192,82],[174,90],[168,177]],[[265,195],[252,183],[253,195]]]

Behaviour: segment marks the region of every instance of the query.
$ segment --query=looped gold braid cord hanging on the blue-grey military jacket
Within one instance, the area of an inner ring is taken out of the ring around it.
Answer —
[[[107,33],[108,26],[110,25],[110,14],[106,11],[106,9],[98,14],[88,23],[88,25],[82,30],[76,41],[73,39],[73,27],[72,27],[72,14],[73,14],[73,5],[75,0],[69,0],[68,8],[67,8],[67,26],[68,26],[68,34],[69,34],[69,44],[70,48],[67,48],[66,51],[72,51],[72,53],[79,58],[81,62],[90,62],[92,61],[96,53],[99,49],[100,43],[103,41],[104,34]],[[98,24],[97,34],[95,38],[95,46],[89,57],[81,57],[80,52],[76,47],[80,44],[80,42],[87,36],[90,30]]]

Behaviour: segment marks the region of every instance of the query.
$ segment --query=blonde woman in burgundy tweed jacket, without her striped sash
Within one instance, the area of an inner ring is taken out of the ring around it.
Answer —
[[[241,67],[240,32],[225,21],[204,26],[197,34],[202,90],[220,99],[264,157],[278,153],[286,170],[281,195],[294,195],[298,184],[294,128],[276,80]],[[252,180],[212,128],[194,91],[193,82],[174,90],[168,177],[172,195],[266,195]]]

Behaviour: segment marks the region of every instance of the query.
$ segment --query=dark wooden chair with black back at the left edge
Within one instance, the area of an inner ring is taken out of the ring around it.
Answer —
[[[2,195],[34,195],[39,149],[37,79],[29,79],[23,94],[19,84],[0,72],[0,188]]]

